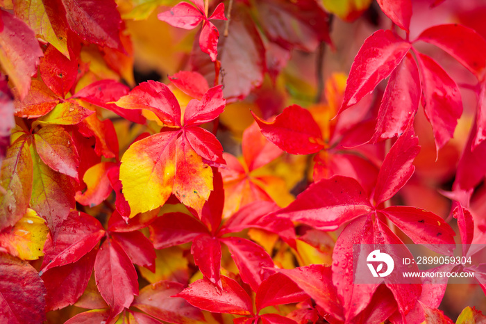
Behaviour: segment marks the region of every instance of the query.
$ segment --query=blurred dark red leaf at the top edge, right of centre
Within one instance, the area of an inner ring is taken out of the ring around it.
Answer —
[[[314,51],[319,42],[330,44],[328,14],[312,0],[264,0],[257,3],[263,31],[286,49]]]

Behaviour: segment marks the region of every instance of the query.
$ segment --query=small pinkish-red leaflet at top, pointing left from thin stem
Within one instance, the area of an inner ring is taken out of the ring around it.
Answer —
[[[170,10],[157,15],[158,19],[181,29],[195,29],[205,18],[203,13],[187,2],[176,4]]]

